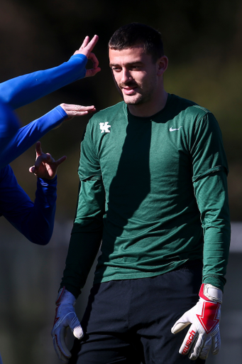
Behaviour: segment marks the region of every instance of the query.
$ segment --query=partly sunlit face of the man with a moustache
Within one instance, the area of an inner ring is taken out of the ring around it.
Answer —
[[[158,92],[158,63],[140,46],[109,49],[109,64],[123,100],[128,105],[152,101]]]

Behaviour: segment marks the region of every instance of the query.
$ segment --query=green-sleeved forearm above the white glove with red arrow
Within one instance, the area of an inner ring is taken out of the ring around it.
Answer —
[[[226,173],[194,183],[204,229],[203,282],[223,291],[231,237]]]

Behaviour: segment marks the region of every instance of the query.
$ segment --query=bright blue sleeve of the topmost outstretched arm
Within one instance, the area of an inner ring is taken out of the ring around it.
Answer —
[[[72,55],[70,60],[55,68],[15,77],[0,84],[0,100],[17,109],[50,94],[86,75],[87,57]]]

